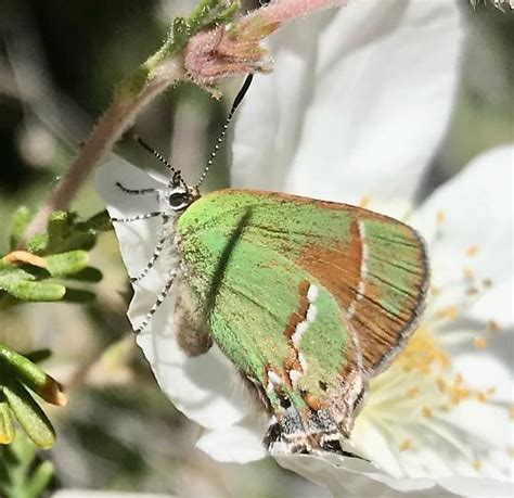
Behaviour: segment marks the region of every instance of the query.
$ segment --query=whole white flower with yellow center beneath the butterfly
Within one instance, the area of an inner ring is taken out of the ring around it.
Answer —
[[[240,115],[234,186],[365,202],[406,215],[449,119],[461,37],[457,8],[447,1],[352,2],[291,25],[271,46],[274,73],[256,78]],[[497,152],[498,161],[509,153]],[[503,424],[509,423],[511,365],[501,356],[512,327],[505,311],[512,286],[510,210],[496,210],[512,191],[502,179],[507,168],[488,157],[416,208],[439,294],[431,298],[426,319],[401,358],[372,382],[357,419],[354,451],[373,465],[337,457],[279,460],[335,496],[417,496],[423,489],[438,497],[500,496],[509,490],[501,481],[483,478],[505,478],[512,444]],[[121,162],[104,168],[99,189],[112,216],[155,208],[154,199],[116,189],[119,180],[130,188],[158,186]],[[483,186],[490,190],[480,192]],[[158,220],[116,226],[131,276],[150,260],[158,229]],[[165,284],[165,261],[159,265],[136,286],[129,311],[134,323]],[[468,295],[475,288],[477,293]],[[138,343],[174,404],[206,429],[197,447],[219,461],[264,458],[264,430],[234,368],[216,346],[201,357],[185,356],[176,344],[172,311],[167,299]],[[502,332],[494,335],[497,328]],[[425,349],[431,357],[423,358]],[[461,403],[455,405],[452,395]]]

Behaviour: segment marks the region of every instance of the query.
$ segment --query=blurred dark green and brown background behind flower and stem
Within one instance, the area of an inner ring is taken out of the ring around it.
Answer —
[[[180,4],[182,3],[182,4]],[[114,85],[163,40],[168,22],[192,2],[168,0],[3,0],[0,12],[0,247],[10,215],[46,200],[108,105]],[[431,187],[472,157],[514,139],[514,13],[460,2],[467,25],[461,81]],[[234,94],[239,81],[231,81]],[[138,119],[138,133],[195,178],[227,114],[191,85],[168,91]],[[127,133],[116,153],[149,168],[158,164]],[[230,139],[228,140],[230,143]],[[229,181],[227,150],[209,187]],[[90,181],[74,206],[87,217],[103,204]],[[112,232],[92,252],[104,273],[88,306],[22,305],[0,310],[0,343],[18,352],[50,347],[43,367],[70,403],[48,409],[59,434],[44,451],[55,488],[138,490],[180,496],[311,496],[303,481],[271,459],[220,464],[194,449],[201,430],[158,390],[125,317],[130,288]],[[46,406],[46,409],[48,406]],[[1,455],[0,455],[1,458]],[[258,475],[259,478],[255,478]]]

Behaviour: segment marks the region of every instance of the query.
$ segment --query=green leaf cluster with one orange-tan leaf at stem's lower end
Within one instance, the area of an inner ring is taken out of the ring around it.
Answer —
[[[24,207],[13,215],[11,252],[0,259],[0,307],[23,301],[91,301],[94,297],[91,292],[69,289],[60,280],[90,283],[101,280],[102,273],[89,267],[88,251],[97,243],[99,232],[111,230],[107,213],[81,221],[75,213],[54,212],[47,233],[29,240],[27,251],[16,251],[29,220],[29,213]]]

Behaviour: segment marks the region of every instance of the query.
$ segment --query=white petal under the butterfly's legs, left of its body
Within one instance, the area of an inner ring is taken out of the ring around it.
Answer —
[[[123,159],[110,162],[97,175],[98,190],[111,216],[133,216],[155,210],[156,196],[128,195],[116,187],[164,188],[164,183]],[[138,274],[150,260],[159,237],[159,220],[115,224],[121,256],[129,273]],[[169,274],[163,255],[155,268],[134,284],[129,318],[137,327],[156,302]],[[226,427],[246,413],[247,399],[234,367],[213,347],[196,358],[179,349],[174,331],[175,299],[171,292],[137,341],[149,359],[162,390],[188,418],[205,427]]]

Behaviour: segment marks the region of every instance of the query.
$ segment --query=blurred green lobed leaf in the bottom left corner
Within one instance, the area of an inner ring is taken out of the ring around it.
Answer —
[[[11,446],[0,448],[0,496],[39,498],[52,482],[51,462],[39,461],[36,448],[22,435]]]

